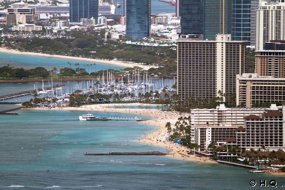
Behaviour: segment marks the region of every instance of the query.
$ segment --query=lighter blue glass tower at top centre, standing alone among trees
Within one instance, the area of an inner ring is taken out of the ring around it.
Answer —
[[[127,0],[127,37],[142,39],[150,36],[151,0]]]

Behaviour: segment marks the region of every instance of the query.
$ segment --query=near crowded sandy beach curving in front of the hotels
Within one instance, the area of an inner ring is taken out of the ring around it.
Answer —
[[[170,122],[172,126],[174,126],[175,122],[181,116],[187,116],[187,114],[181,114],[179,112],[169,112],[169,111],[161,111],[155,109],[140,109],[140,108],[112,108],[114,105],[118,104],[94,104],[94,105],[83,105],[80,107],[54,107],[54,108],[41,108],[36,107],[32,109],[41,110],[41,109],[48,109],[48,110],[76,110],[76,111],[100,111],[100,112],[117,112],[117,113],[132,113],[132,114],[139,114],[139,115],[146,115],[153,117],[152,120],[141,121],[146,124],[152,125],[156,127],[156,130],[152,133],[141,134],[141,138],[138,139],[141,143],[147,143],[154,146],[164,147],[168,150],[169,157],[173,157],[176,159],[182,159],[185,161],[196,161],[196,162],[208,162],[208,163],[217,163],[213,160],[204,158],[204,157],[197,157],[196,155],[188,155],[183,153],[182,150],[187,149],[181,145],[177,145],[172,142],[167,141],[167,129],[165,128],[165,124]],[[122,105],[122,104],[120,104]],[[124,106],[143,106],[146,104],[142,103],[129,103],[124,104]]]

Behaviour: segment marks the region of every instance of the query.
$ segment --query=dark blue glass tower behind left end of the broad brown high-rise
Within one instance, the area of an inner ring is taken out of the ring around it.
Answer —
[[[179,0],[181,34],[203,34],[203,0]]]

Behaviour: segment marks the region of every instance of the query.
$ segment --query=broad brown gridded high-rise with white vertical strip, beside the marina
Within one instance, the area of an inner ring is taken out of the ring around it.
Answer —
[[[181,39],[178,48],[178,95],[187,99],[210,100],[219,92],[236,92],[236,75],[245,71],[245,41],[232,41],[231,35],[216,40]]]

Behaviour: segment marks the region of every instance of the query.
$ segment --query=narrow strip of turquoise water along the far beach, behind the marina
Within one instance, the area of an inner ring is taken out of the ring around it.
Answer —
[[[71,65],[68,64],[71,63]],[[75,66],[76,63],[79,65]],[[29,55],[19,55],[14,53],[4,53],[0,52],[0,67],[10,65],[14,67],[23,67],[24,69],[33,69],[36,67],[44,67],[47,70],[51,70],[53,67],[58,68],[58,72],[60,68],[71,67],[71,68],[85,68],[87,72],[106,70],[106,69],[115,69],[120,70],[124,67],[96,63],[96,65],[90,65],[96,62],[91,61],[80,61],[74,59],[63,59],[63,58],[54,58],[54,57],[44,57],[44,56],[29,56]],[[89,65],[89,66],[88,66]]]

